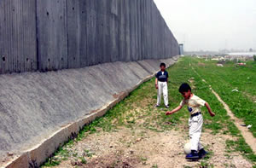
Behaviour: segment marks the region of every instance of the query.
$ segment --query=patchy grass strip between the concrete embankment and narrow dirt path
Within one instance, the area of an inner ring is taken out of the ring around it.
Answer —
[[[212,134],[230,134],[236,136],[237,141],[227,142],[228,151],[239,151],[247,157],[247,159],[255,163],[256,156],[253,154],[251,148],[247,146],[246,142],[244,142],[239,130],[237,130],[236,126],[230,121],[230,117],[227,116],[221,103],[212,95],[211,90],[201,81],[201,78],[189,67],[189,62],[191,61],[192,60],[186,57],[174,66],[168,68],[171,80],[168,88],[171,108],[176,107],[179,102],[182,101],[182,96],[177,92],[179,85],[183,82],[188,82],[189,78],[195,78],[193,83],[196,87],[196,89],[193,90],[195,95],[208,101],[212,110],[217,113],[217,116],[214,118],[210,117],[207,113],[204,114],[204,129],[211,130]],[[177,125],[187,124],[189,113],[185,108],[172,116],[166,116],[160,108],[156,109],[153,107],[155,101],[156,90],[154,89],[153,78],[142,84],[137,90],[134,90],[124,101],[119,102],[113,109],[109,110],[104,117],[96,119],[90,125],[84,126],[84,129],[80,131],[78,137],[67,142],[64,147],[59,148],[53,157],[48,159],[44,166],[58,165],[61,159],[72,157],[72,154],[67,148],[72,148],[73,142],[86,138],[88,134],[95,133],[96,131],[119,130],[123,126],[133,129],[135,125],[139,125],[144,129],[165,131],[171,129],[178,130]],[[203,111],[206,112],[205,107]],[[140,122],[140,124],[137,123],[139,119],[143,119],[143,122]],[[184,134],[187,134],[187,132],[184,132]],[[201,165],[207,165],[207,158],[201,161]]]

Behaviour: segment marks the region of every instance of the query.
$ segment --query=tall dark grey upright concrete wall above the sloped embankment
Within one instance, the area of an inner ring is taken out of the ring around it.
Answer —
[[[0,73],[178,55],[153,0],[1,0]]]

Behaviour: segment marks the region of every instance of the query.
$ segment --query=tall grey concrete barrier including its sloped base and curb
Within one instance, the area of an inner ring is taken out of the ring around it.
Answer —
[[[0,0],[0,167],[38,167],[178,52],[153,0]]]

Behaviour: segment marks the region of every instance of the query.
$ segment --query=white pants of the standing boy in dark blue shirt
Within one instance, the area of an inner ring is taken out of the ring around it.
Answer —
[[[169,104],[167,83],[158,81],[157,103],[156,103],[158,106],[160,106],[162,94],[164,95],[165,105],[167,106]]]

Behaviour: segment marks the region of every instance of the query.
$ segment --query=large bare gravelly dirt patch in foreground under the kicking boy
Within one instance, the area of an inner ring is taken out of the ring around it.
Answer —
[[[225,141],[234,139],[228,135],[212,135],[205,131],[201,141],[210,154],[208,166],[252,167],[240,154],[227,153]],[[118,131],[98,132],[76,142],[68,150],[75,157],[62,161],[57,167],[200,167],[201,161],[189,162],[184,157],[183,145],[189,141],[184,132],[168,130],[155,132],[142,128],[121,128]],[[86,151],[86,152],[84,152]],[[89,151],[89,152],[88,152]],[[91,156],[86,156],[91,153]],[[87,164],[74,165],[79,156],[84,156]]]

